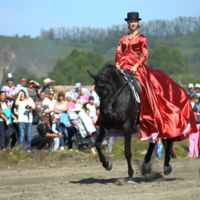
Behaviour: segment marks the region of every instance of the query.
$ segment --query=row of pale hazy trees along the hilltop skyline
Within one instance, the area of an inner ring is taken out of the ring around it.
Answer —
[[[174,20],[154,20],[140,23],[140,32],[146,36],[180,36],[200,31],[200,16],[178,17]],[[116,41],[128,32],[127,24],[107,29],[91,27],[50,28],[41,30],[40,38],[75,43],[101,44]]]

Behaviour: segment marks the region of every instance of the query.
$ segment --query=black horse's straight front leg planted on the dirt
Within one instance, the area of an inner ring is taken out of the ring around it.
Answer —
[[[126,157],[127,160],[127,164],[128,164],[128,183],[134,183],[133,181],[133,168],[131,165],[131,157],[132,157],[132,153],[131,153],[131,126],[130,125],[124,125],[123,127],[124,129],[124,138],[125,138],[125,149],[124,149],[124,155]]]

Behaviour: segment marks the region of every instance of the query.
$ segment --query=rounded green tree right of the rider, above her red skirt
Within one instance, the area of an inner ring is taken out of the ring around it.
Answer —
[[[177,49],[157,46],[149,52],[148,65],[168,75],[188,73],[188,64]]]

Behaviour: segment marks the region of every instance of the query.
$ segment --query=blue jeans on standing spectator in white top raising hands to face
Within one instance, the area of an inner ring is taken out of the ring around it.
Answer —
[[[19,122],[19,144],[20,144],[20,150],[23,149],[23,142],[24,142],[24,136],[26,138],[26,150],[31,149],[31,132],[32,132],[32,123],[25,123],[25,122]]]

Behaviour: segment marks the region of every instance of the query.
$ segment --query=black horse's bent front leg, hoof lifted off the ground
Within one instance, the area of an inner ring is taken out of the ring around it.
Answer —
[[[103,167],[106,170],[111,170],[112,169],[112,163],[109,160],[106,160],[104,154],[102,153],[102,141],[103,138],[105,137],[106,132],[108,129],[105,127],[103,121],[100,124],[100,130],[99,130],[99,135],[95,141],[95,147],[97,149],[98,155],[100,162],[102,163]]]

